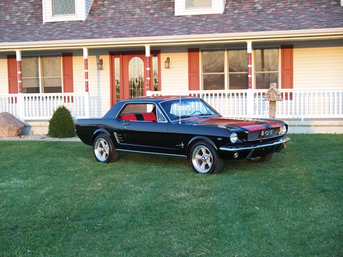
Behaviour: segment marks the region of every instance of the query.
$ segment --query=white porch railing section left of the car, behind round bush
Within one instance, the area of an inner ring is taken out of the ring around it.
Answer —
[[[61,105],[66,106],[74,118],[89,117],[88,93],[0,95],[0,112],[7,111],[22,120],[48,120]]]

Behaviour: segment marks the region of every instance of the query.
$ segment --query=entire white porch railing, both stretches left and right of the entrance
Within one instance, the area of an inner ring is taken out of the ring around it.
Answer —
[[[267,90],[150,91],[150,95],[192,95],[203,98],[223,116],[268,118]],[[342,89],[280,89],[276,118],[343,118]],[[48,120],[65,105],[74,118],[90,117],[89,93],[3,94],[0,112],[10,112],[22,120]]]

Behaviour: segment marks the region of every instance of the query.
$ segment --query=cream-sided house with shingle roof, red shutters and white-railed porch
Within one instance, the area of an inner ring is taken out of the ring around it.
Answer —
[[[27,133],[154,94],[265,117],[270,83],[294,132],[343,133],[343,0],[1,1],[0,29],[0,112]]]

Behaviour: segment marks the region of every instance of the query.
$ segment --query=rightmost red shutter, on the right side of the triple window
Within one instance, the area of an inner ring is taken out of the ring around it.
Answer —
[[[281,87],[293,88],[293,45],[281,46]]]

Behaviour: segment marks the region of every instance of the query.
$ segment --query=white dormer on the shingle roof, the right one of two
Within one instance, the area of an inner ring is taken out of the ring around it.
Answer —
[[[175,0],[175,16],[222,14],[225,0]]]

